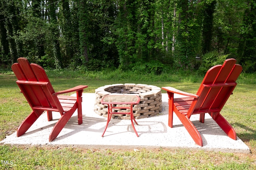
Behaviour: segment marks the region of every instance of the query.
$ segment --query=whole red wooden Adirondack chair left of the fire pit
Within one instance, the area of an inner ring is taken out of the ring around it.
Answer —
[[[17,137],[26,133],[44,111],[47,111],[48,121],[52,120],[52,111],[61,115],[50,133],[50,142],[58,136],[76,109],[78,124],[82,124],[82,92],[88,86],[80,85],[55,93],[44,69],[38,64],[30,64],[25,58],[19,58],[18,63],[12,65],[12,70],[18,78],[16,83],[33,110],[18,128]],[[76,92],[76,96],[58,96],[69,92]]]

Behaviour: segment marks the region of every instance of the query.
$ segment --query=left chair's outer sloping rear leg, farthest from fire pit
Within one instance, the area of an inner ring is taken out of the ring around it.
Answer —
[[[43,113],[43,110],[37,111],[32,111],[28,117],[20,124],[18,130],[17,130],[17,137],[20,137],[26,131],[33,125],[33,123],[38,119],[38,117]]]

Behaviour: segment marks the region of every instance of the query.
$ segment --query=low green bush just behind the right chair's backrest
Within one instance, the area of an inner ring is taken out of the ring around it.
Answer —
[[[206,53],[201,57],[199,72],[205,74],[212,66],[223,64],[229,55],[220,55],[217,51]]]

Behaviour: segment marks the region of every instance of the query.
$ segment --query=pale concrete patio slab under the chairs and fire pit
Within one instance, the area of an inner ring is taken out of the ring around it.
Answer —
[[[192,115],[191,120],[200,132],[203,147],[195,144],[178,117],[174,114],[174,127],[168,127],[168,96],[162,94],[163,110],[159,115],[136,119],[135,125],[139,137],[136,137],[130,120],[111,119],[104,137],[106,118],[94,113],[94,93],[83,94],[83,123],[77,124],[75,113],[58,137],[49,142],[49,135],[59,113],[53,114],[53,121],[47,121],[47,114],[42,116],[21,137],[16,132],[7,136],[0,144],[17,145],[65,145],[97,149],[139,149],[139,148],[188,148],[214,150],[221,152],[250,153],[250,149],[241,139],[230,139],[215,121],[206,114],[205,123],[200,123],[199,115]]]

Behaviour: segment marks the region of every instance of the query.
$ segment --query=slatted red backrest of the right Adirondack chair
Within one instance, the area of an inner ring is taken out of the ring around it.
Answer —
[[[236,80],[242,72],[242,66],[235,59],[227,59],[223,65],[210,68],[198,89],[198,99],[188,110],[192,114],[220,112],[236,87]]]

